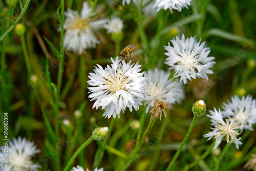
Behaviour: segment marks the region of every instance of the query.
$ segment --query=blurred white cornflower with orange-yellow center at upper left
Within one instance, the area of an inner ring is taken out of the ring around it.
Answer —
[[[67,18],[64,23],[64,47],[67,50],[82,54],[84,50],[94,48],[100,43],[93,31],[103,27],[106,20],[92,21],[91,16],[94,13],[91,11],[87,2],[83,2],[80,15],[75,10],[68,9],[65,12]]]

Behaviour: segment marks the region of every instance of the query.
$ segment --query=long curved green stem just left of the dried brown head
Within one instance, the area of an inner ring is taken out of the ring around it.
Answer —
[[[138,134],[137,134],[136,146],[135,146],[134,151],[132,152],[132,154],[130,156],[130,159],[127,161],[127,164],[125,164],[121,168],[121,170],[123,170],[123,171],[126,170],[136,159],[136,155],[137,155],[137,153],[139,151],[139,147],[140,147],[141,134],[142,134],[145,119],[146,119],[146,110],[144,110],[144,112],[141,116],[141,119],[140,119],[140,128],[139,128],[139,131],[138,131]]]

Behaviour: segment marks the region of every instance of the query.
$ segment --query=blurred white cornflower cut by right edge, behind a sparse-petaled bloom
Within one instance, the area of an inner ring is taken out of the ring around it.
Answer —
[[[252,96],[243,96],[241,99],[236,95],[231,97],[231,102],[222,104],[223,115],[229,119],[234,118],[240,126],[240,131],[251,130],[252,124],[256,123],[256,101]]]

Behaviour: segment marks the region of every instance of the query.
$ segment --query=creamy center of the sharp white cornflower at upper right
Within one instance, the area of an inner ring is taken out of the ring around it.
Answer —
[[[199,54],[194,54],[194,49],[190,52],[187,52],[185,49],[181,51],[181,60],[178,61],[179,64],[183,64],[184,67],[188,68],[190,71],[193,71],[196,66],[200,65]]]

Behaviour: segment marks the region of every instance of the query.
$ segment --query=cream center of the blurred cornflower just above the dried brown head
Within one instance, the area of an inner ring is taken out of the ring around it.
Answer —
[[[154,97],[154,99],[157,100],[165,100],[165,93],[168,90],[164,89],[164,85],[159,87],[159,83],[153,83],[152,81],[150,81],[150,86],[148,86],[148,89],[145,90],[146,95],[148,97]]]

